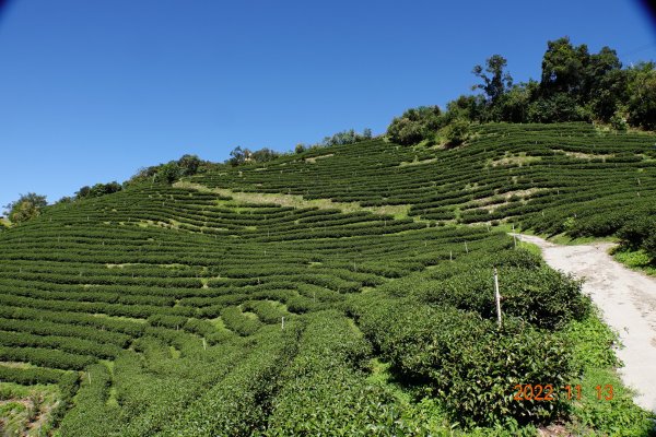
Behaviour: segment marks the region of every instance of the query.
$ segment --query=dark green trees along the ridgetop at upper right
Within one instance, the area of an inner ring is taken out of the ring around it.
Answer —
[[[398,144],[443,141],[457,145],[472,122],[587,121],[656,129],[656,64],[639,62],[624,68],[617,51],[602,47],[590,54],[585,44],[574,46],[569,37],[547,43],[540,81],[518,84],[506,70],[507,60],[493,55],[472,73],[482,94],[461,95],[446,105],[406,110],[387,128],[387,138]]]

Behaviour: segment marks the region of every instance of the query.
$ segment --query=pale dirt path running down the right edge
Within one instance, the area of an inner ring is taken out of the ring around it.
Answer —
[[[608,249],[612,243],[559,246],[531,235],[519,235],[538,245],[549,265],[585,279],[583,291],[617,330],[624,347],[622,380],[637,391],[635,402],[656,412],[656,279],[624,268]]]

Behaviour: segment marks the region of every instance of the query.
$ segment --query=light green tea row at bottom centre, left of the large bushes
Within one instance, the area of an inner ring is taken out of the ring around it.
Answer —
[[[265,435],[406,435],[394,397],[367,383],[360,369],[371,346],[349,320],[332,310],[305,322]]]

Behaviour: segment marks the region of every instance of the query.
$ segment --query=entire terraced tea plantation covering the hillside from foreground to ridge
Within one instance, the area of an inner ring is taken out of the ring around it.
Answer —
[[[468,224],[621,232],[656,212],[655,143],[578,123],[483,125],[456,149],[378,139],[51,206],[0,233],[2,426],[612,434],[563,395],[514,399],[516,385],[586,379],[575,351],[596,340],[572,332],[596,316],[578,282]],[[290,206],[290,194],[335,203]],[[394,215],[376,210],[388,205]],[[616,364],[610,339],[595,366]],[[649,415],[620,392],[620,432],[648,433]]]

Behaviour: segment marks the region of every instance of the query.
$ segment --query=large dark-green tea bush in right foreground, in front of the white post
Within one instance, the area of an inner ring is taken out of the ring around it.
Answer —
[[[432,388],[458,422],[539,423],[566,410],[562,400],[513,400],[517,383],[561,387],[573,377],[567,344],[555,335],[516,319],[506,319],[499,330],[470,311],[383,303],[379,296],[355,312],[393,369],[407,381]]]

